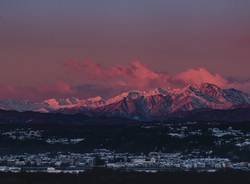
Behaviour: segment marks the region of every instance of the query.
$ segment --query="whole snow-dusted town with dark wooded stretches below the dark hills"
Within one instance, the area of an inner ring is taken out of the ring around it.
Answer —
[[[250,171],[247,125],[188,122],[96,127],[3,125],[0,172]]]

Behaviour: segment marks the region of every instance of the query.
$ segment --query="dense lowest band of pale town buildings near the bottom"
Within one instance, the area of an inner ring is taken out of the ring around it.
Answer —
[[[138,172],[204,171],[222,169],[250,171],[248,162],[231,162],[227,158],[201,158],[181,153],[151,152],[135,155],[97,149],[92,153],[39,153],[3,155],[0,172],[81,173],[94,167]]]

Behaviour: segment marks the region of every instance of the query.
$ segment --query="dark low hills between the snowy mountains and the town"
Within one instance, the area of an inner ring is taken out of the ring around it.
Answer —
[[[229,110],[201,109],[189,112],[169,114],[165,117],[144,122],[250,122],[250,108],[236,108]],[[0,110],[0,123],[135,123],[143,120],[134,120],[122,117],[88,116],[84,114],[61,114],[39,112],[17,112]]]

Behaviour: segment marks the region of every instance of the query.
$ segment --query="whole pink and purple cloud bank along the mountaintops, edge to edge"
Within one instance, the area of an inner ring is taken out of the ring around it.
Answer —
[[[250,92],[250,81],[227,79],[206,68],[192,68],[170,75],[151,69],[140,61],[129,65],[103,66],[90,60],[67,61],[63,66],[65,79],[50,85],[0,86],[0,98],[46,99],[51,97],[108,98],[127,90],[149,90],[154,88],[179,88],[188,84],[212,83],[223,88],[237,88]],[[164,70],[164,68],[162,68]],[[165,69],[168,71],[168,69]]]

